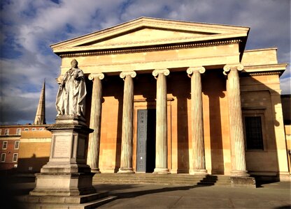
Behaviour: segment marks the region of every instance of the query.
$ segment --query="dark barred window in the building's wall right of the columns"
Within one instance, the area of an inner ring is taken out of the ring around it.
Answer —
[[[264,150],[262,117],[245,116],[246,148],[247,150]]]

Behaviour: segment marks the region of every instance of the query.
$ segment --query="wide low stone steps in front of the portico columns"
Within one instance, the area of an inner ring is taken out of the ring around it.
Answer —
[[[152,173],[98,173],[94,183],[110,184],[162,184],[162,185],[218,185],[231,187],[229,176],[194,176],[189,174],[152,174]]]

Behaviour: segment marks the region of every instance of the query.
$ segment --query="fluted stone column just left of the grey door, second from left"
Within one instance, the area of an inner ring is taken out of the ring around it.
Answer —
[[[118,173],[134,173],[132,169],[133,117],[134,117],[134,82],[136,72],[121,72],[120,77],[125,80],[122,111],[122,144],[121,160]]]

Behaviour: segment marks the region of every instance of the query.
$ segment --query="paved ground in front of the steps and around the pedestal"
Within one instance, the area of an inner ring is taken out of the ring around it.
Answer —
[[[1,178],[1,177],[0,177]],[[0,179],[1,207],[21,208],[13,196],[29,194],[30,180]],[[262,184],[256,189],[173,185],[94,185],[118,199],[99,208],[291,208],[290,183]],[[3,195],[4,194],[4,195]]]

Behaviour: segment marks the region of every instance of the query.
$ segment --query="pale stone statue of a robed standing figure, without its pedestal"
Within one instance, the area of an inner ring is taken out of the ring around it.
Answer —
[[[71,61],[71,69],[57,78],[59,91],[55,102],[57,116],[85,116],[85,95],[87,94],[83,71],[78,61]]]

